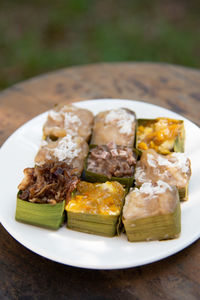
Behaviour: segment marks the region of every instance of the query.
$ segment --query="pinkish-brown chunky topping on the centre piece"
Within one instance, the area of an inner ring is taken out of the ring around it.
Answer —
[[[130,177],[134,173],[136,156],[131,148],[109,143],[90,150],[87,170],[108,178]]]

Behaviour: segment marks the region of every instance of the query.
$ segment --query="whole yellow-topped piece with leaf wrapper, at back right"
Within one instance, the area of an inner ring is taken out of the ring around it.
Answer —
[[[138,119],[136,148],[154,149],[160,154],[184,152],[185,130],[182,120],[169,118]]]

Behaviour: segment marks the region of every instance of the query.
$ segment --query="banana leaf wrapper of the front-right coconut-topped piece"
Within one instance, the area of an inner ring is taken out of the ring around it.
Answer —
[[[123,224],[130,242],[177,238],[181,232],[180,202],[173,213],[133,221],[123,219]]]

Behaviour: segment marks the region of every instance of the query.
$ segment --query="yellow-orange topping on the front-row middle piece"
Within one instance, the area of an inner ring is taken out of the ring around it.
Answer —
[[[77,192],[66,205],[66,210],[97,215],[119,215],[125,190],[116,181],[90,183],[81,181]]]

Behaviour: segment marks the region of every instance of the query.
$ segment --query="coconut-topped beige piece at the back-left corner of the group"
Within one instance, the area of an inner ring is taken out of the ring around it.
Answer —
[[[66,135],[80,136],[88,141],[92,132],[93,114],[91,111],[71,104],[57,105],[52,109],[43,126],[44,139],[57,140]]]

